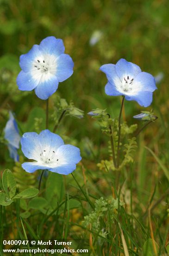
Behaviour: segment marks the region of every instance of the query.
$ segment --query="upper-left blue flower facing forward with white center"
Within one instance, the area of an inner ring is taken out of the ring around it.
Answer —
[[[34,45],[27,54],[21,55],[19,64],[22,71],[17,77],[19,90],[35,89],[35,94],[42,100],[54,94],[58,83],[73,74],[74,63],[64,50],[63,40],[49,36],[40,45]]]

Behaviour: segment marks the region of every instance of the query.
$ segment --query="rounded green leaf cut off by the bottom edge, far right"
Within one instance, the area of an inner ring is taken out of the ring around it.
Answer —
[[[156,250],[156,253],[155,253],[155,250]],[[156,256],[156,255],[158,255],[158,245],[155,240],[149,238],[144,243],[142,256]]]

